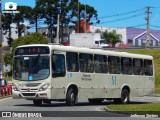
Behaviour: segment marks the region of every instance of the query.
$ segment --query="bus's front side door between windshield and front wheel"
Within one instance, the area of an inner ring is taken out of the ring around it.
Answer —
[[[65,99],[66,68],[63,54],[52,55],[52,99]]]

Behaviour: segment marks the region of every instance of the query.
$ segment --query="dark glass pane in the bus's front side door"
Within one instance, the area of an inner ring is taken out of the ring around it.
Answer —
[[[65,59],[64,55],[54,54],[52,55],[52,77],[65,76]]]

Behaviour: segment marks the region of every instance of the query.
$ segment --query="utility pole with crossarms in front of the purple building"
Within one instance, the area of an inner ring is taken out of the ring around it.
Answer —
[[[150,7],[147,7],[147,17],[146,17],[146,21],[147,21],[147,28],[146,28],[146,42],[145,42],[145,49],[147,47],[150,47]]]

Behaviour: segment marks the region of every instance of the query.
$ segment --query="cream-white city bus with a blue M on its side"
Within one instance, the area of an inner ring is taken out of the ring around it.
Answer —
[[[154,92],[154,63],[148,55],[72,46],[19,46],[13,61],[13,98],[34,105],[80,98],[127,104]]]

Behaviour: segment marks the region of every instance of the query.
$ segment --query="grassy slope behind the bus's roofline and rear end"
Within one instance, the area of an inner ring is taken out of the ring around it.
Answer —
[[[155,93],[160,93],[160,50],[159,49],[141,49],[141,50],[125,49],[120,51],[153,56],[154,67],[155,67]]]

